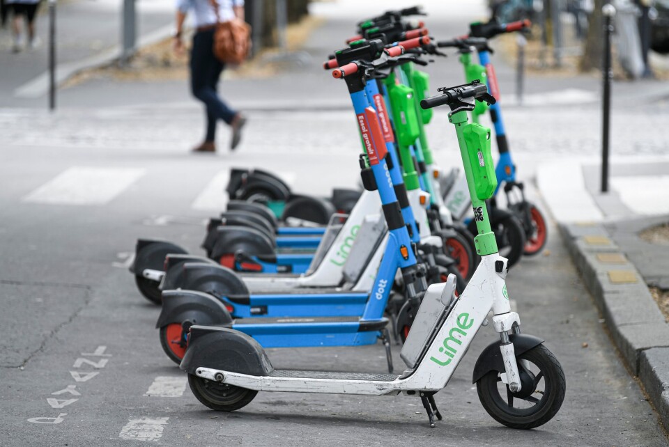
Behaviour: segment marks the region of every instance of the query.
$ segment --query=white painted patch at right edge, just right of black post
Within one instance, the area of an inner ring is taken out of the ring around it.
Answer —
[[[636,214],[669,212],[669,175],[615,176],[610,183],[620,200]]]

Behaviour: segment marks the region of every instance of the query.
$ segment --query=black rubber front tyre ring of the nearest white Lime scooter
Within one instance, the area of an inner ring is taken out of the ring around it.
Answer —
[[[491,371],[476,382],[479,400],[490,416],[502,425],[510,428],[529,430],[544,425],[557,414],[562,406],[567,384],[560,362],[544,345],[533,347],[516,359],[525,359],[534,363],[544,373],[544,395],[536,405],[528,409],[509,411],[507,402],[498,390],[498,372]],[[521,390],[522,392],[523,390]]]

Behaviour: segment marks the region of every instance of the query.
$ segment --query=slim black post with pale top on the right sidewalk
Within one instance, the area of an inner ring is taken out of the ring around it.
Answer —
[[[602,67],[602,118],[601,118],[601,192],[608,192],[608,136],[611,115],[611,79],[613,69],[611,68],[611,33],[613,24],[611,18],[615,15],[615,8],[606,3],[601,8],[604,19],[604,63]]]

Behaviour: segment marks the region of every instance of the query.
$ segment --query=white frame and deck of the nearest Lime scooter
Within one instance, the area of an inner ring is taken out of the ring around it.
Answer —
[[[501,273],[495,271],[495,262],[498,261],[502,261],[504,265]],[[325,373],[330,377],[323,378],[323,373],[321,377],[309,377],[309,371],[292,371],[291,374],[274,371],[268,376],[253,376],[206,367],[197,368],[195,374],[204,379],[256,391],[361,395],[397,395],[401,392],[406,395],[418,395],[420,391],[439,391],[452,377],[479,328],[487,325],[486,316],[489,311],[492,310],[495,315],[493,324],[496,331],[510,331],[514,324],[520,324],[518,314],[511,311],[509,300],[505,296],[506,265],[507,260],[499,256],[499,253],[482,257],[467,288],[456,300],[436,335],[428,334],[426,343],[418,346],[419,349],[422,348],[422,352],[408,352],[405,355],[405,349],[416,347],[415,343],[411,343],[412,333],[409,333],[401,356],[405,361],[406,357],[411,356],[419,360],[413,368],[409,365],[410,369],[403,375]],[[454,276],[452,280],[449,279],[449,283],[452,283],[454,288]],[[444,297],[447,284],[430,285],[423,303],[433,299],[449,301],[453,289],[447,290],[448,296]],[[510,350],[508,348],[502,350],[502,356],[506,368],[505,379],[509,384],[519,387],[518,366],[512,344]]]

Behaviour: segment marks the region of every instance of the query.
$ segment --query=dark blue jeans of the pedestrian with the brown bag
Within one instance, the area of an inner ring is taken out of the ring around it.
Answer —
[[[236,111],[230,109],[217,93],[218,79],[225,67],[213,53],[214,30],[198,31],[193,37],[190,54],[190,88],[194,97],[204,103],[207,115],[205,141],[214,141],[217,120],[232,123]]]

